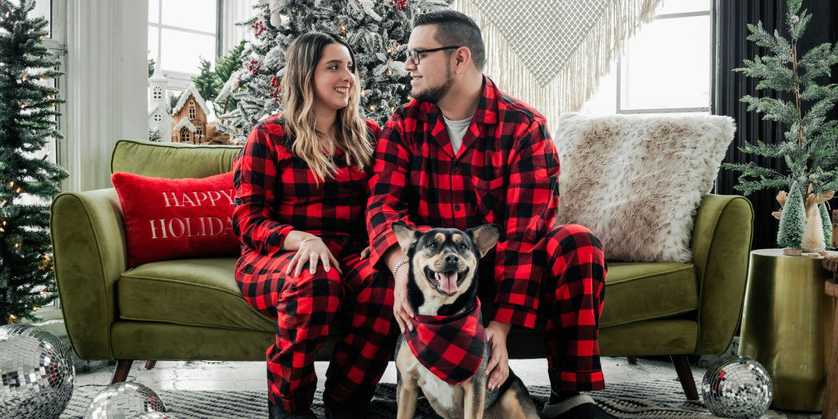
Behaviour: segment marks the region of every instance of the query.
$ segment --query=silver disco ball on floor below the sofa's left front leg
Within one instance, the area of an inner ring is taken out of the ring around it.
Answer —
[[[166,411],[157,393],[145,385],[127,381],[108,385],[93,397],[87,405],[85,419],[128,419],[152,411]]]

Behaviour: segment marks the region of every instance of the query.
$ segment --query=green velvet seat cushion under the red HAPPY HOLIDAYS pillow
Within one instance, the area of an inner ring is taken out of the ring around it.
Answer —
[[[235,257],[157,261],[123,272],[116,282],[120,318],[275,332],[276,322],[251,308],[235,283]]]

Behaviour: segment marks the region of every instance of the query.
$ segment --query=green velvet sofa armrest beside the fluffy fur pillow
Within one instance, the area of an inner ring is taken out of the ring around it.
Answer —
[[[696,354],[722,354],[742,319],[753,207],[737,195],[706,195],[696,214],[692,255],[699,287]]]

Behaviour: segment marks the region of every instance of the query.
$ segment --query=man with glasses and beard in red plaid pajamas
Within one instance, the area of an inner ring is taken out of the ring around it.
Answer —
[[[376,146],[366,215],[372,263],[395,277],[401,332],[412,329],[407,316],[414,313],[406,301],[407,258],[392,223],[503,225],[505,241],[479,269],[481,299],[494,302],[485,330],[492,345],[489,388],[509,376],[512,325],[533,328],[541,315],[553,389],[545,415],[613,417],[577,392],[605,386],[597,332],[606,264],[590,230],[553,226],[559,162],[544,116],[482,74],[480,29],[463,13],[417,17],[407,48],[414,100],[393,114]]]

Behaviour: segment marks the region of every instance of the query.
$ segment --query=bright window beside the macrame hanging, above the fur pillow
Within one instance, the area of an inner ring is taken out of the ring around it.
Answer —
[[[711,2],[668,0],[582,106],[587,115],[709,113]]]

